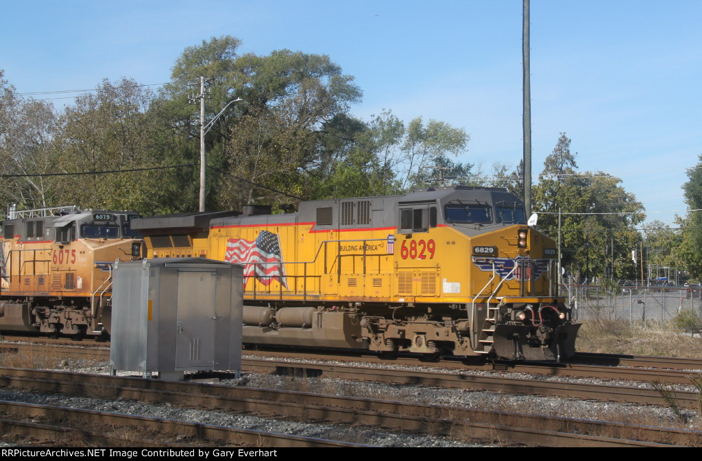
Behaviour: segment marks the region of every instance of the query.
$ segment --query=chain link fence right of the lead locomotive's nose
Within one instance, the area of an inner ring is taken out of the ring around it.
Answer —
[[[681,312],[702,323],[702,287],[618,287],[611,292],[597,285],[560,285],[560,294],[574,308],[577,321],[588,319],[658,325]],[[689,311],[689,312],[688,312]]]

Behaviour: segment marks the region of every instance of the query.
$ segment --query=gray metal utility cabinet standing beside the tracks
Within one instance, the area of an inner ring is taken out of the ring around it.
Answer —
[[[159,258],[114,266],[113,370],[241,372],[242,268],[204,258]]]

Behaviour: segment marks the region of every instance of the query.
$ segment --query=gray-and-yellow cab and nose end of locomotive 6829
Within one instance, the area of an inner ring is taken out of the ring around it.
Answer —
[[[427,307],[435,320],[456,325],[453,353],[551,361],[575,353],[580,325],[557,294],[555,242],[527,225],[515,195],[437,188],[402,197],[398,208],[405,239],[398,273],[403,266],[424,269],[414,274],[420,277],[430,268],[440,273],[444,303]]]

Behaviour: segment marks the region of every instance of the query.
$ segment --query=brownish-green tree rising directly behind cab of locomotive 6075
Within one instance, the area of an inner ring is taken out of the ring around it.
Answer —
[[[153,95],[137,82],[104,80],[97,91],[79,96],[62,115],[58,169],[65,173],[95,172],[67,176],[61,181],[65,200],[83,207],[136,209],[157,212],[161,182],[168,173],[119,172],[161,166],[150,148],[151,126],[147,117]],[[114,171],[110,174],[98,174]],[[154,181],[159,178],[161,181]]]

